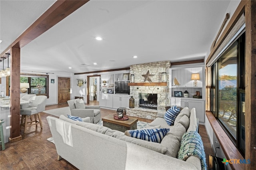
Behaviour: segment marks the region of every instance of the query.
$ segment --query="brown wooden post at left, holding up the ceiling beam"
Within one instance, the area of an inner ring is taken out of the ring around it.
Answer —
[[[10,142],[22,140],[20,135],[20,48],[11,47]]]

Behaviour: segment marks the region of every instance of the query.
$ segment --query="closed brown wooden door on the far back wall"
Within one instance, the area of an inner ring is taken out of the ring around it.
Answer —
[[[70,100],[70,78],[58,77],[58,104]]]

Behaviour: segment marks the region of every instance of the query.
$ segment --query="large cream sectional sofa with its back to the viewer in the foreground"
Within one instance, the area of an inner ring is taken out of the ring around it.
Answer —
[[[186,116],[184,116],[186,115]],[[47,117],[58,160],[64,158],[78,169],[104,170],[197,170],[200,158],[189,156],[186,161],[177,157],[182,135],[197,128],[196,111],[182,109],[168,126],[163,115],[158,115],[148,128],[170,128],[161,143],[126,136],[123,132],[92,123],[73,121],[61,115]],[[160,125],[160,126],[159,126]]]

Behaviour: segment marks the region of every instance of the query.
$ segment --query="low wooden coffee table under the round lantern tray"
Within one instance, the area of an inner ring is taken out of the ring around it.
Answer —
[[[137,129],[138,119],[129,117],[128,120],[117,120],[114,119],[114,115],[108,115],[102,118],[103,126],[108,127],[114,130],[118,130],[121,132],[125,132],[126,130],[134,130]]]

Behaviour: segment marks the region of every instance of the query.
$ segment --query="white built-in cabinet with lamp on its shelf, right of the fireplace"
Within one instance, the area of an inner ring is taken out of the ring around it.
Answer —
[[[193,80],[191,80],[192,73],[199,73],[200,80],[198,80],[197,87],[193,86]],[[205,69],[204,65],[196,67],[171,67],[170,68],[170,103],[171,105],[177,105],[180,107],[188,107],[189,109],[196,109],[196,117],[198,117],[200,123],[204,123],[205,119]],[[176,79],[179,83],[174,83]],[[174,93],[181,91],[182,96],[176,97]],[[188,91],[188,97],[184,97],[184,91]],[[200,91],[202,99],[193,98],[196,91]]]

